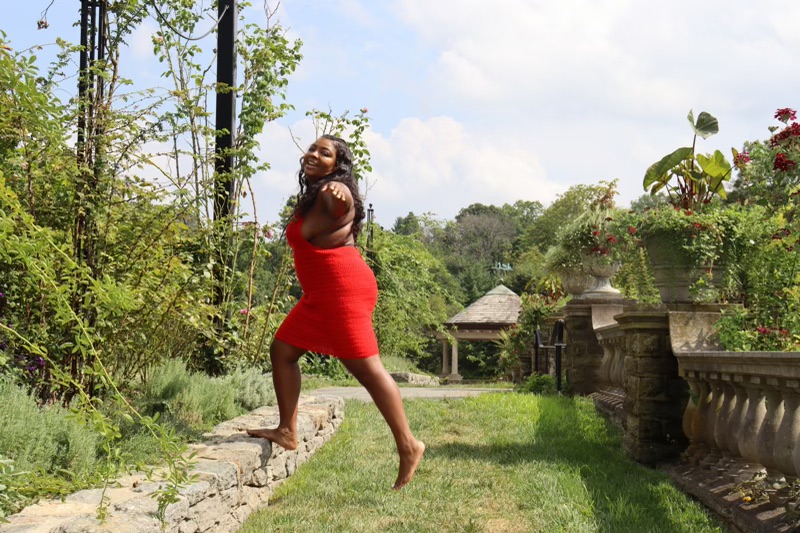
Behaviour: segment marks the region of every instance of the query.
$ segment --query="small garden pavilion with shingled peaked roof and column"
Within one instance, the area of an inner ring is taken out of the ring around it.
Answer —
[[[446,333],[436,332],[442,343],[442,377],[450,381],[463,379],[458,373],[458,341],[499,339],[500,332],[517,324],[520,307],[519,296],[505,285],[498,285],[447,320]]]

